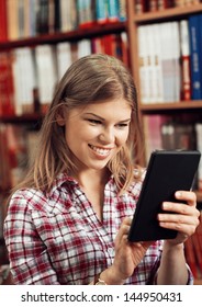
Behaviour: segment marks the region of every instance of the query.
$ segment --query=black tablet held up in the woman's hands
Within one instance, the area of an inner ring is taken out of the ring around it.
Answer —
[[[177,231],[158,225],[164,201],[173,201],[178,190],[192,189],[201,154],[198,150],[156,150],[147,172],[128,234],[130,241],[172,239]]]

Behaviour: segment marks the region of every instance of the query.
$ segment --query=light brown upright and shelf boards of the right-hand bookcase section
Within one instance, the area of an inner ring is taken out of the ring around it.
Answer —
[[[130,57],[131,57],[131,70],[134,77],[134,80],[138,89],[138,100],[139,100],[139,112],[143,118],[143,126],[145,125],[144,118],[149,116],[170,116],[170,118],[177,118],[180,121],[186,117],[186,121],[191,117],[191,121],[200,121],[202,116],[202,100],[182,100],[179,101],[166,101],[166,102],[155,102],[145,103],[142,101],[141,93],[141,61],[139,61],[139,41],[138,41],[138,27],[143,25],[153,25],[155,23],[165,23],[165,22],[179,22],[182,19],[188,19],[191,14],[201,14],[202,13],[202,3],[183,5],[176,8],[168,8],[164,10],[156,11],[146,11],[135,13],[137,2],[142,1],[127,1],[127,33],[128,33],[128,45],[130,45]],[[144,2],[144,1],[143,1]],[[145,128],[145,126],[144,126]],[[145,132],[145,137],[147,137]],[[146,157],[143,160],[143,163],[146,163]],[[199,208],[201,209],[202,204],[202,192],[197,192]],[[202,284],[202,273],[200,276],[195,277],[195,284]]]

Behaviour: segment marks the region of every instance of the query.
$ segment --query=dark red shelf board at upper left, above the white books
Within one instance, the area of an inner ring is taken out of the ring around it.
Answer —
[[[10,41],[0,43],[0,50],[7,50],[16,47],[36,46],[43,44],[56,44],[65,41],[76,42],[82,38],[90,38],[94,36],[102,36],[109,33],[120,33],[126,30],[125,22],[114,22],[108,24],[96,24],[92,27],[78,29],[70,32],[58,32],[54,34],[43,34],[29,38],[21,38],[18,41]]]

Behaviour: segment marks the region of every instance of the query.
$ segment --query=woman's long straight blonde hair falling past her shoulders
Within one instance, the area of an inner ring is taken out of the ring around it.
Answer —
[[[139,160],[135,148],[143,148],[143,133],[137,107],[137,92],[131,72],[119,59],[93,54],[75,61],[57,84],[52,104],[40,130],[40,143],[33,166],[16,187],[49,191],[55,178],[75,168],[65,140],[64,127],[56,118],[61,107],[77,106],[106,100],[124,99],[132,107],[132,121],[126,144],[108,163],[120,191],[127,190],[134,180],[134,167]]]

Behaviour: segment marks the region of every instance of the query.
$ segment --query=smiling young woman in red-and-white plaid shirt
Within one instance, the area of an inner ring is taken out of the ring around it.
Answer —
[[[191,284],[183,242],[199,224],[193,192],[164,203],[172,240],[127,240],[144,171],[136,88],[106,55],[75,61],[41,129],[34,166],[12,194],[4,238],[15,284]],[[167,214],[172,212],[172,214]]]

